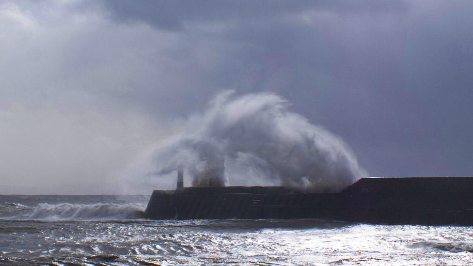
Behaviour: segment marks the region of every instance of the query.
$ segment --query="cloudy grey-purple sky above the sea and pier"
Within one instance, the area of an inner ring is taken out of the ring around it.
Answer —
[[[126,193],[127,166],[224,90],[280,95],[369,176],[472,176],[472,12],[441,0],[0,0],[0,193]]]

